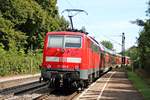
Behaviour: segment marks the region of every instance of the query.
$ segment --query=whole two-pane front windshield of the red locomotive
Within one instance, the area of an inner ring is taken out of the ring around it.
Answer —
[[[63,36],[63,35],[49,35],[48,47],[55,48],[80,48],[81,37],[79,36]]]

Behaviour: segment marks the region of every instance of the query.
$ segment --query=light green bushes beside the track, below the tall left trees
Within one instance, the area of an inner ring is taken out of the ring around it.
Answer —
[[[40,54],[24,54],[12,51],[0,53],[0,76],[38,73],[42,61]]]

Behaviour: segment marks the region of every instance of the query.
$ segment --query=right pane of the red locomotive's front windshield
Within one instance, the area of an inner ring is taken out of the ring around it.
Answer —
[[[65,37],[65,48],[80,48],[81,37],[66,36]]]

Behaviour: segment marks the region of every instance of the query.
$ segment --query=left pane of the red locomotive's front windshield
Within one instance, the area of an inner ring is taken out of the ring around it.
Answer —
[[[49,35],[48,36],[48,47],[62,48],[63,47],[63,38],[64,38],[64,36]]]

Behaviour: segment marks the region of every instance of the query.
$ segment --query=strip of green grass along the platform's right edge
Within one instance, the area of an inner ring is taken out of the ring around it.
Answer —
[[[128,78],[132,81],[134,87],[143,95],[144,100],[150,100],[150,86],[146,84],[144,79],[131,71],[128,71]]]

